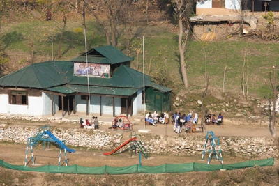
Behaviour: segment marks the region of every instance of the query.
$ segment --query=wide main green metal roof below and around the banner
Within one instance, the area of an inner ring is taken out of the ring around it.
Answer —
[[[107,47],[110,48],[111,46]],[[102,47],[100,48],[102,49]],[[88,84],[87,77],[75,76],[73,68],[74,63],[72,61],[33,63],[10,75],[1,77],[0,86],[40,88],[66,94],[87,92],[87,90],[83,89]],[[142,72],[126,65],[120,65],[111,78],[89,77],[89,85],[94,86],[93,90],[97,90],[96,93],[98,94],[131,95],[135,93],[135,90],[144,87],[143,78],[145,78],[144,85],[146,87],[150,86],[163,92],[172,91],[170,88],[152,82],[148,75],[143,76]],[[72,86],[75,86],[74,89]],[[101,88],[98,89],[96,87]],[[121,92],[121,88],[127,92]]]

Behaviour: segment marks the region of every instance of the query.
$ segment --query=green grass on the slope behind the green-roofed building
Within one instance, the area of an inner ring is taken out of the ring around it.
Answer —
[[[37,56],[48,56],[51,54],[49,33],[54,34],[54,54],[58,48],[59,31],[63,22],[17,22],[13,24],[3,24],[2,40],[6,45],[6,50],[11,52],[26,52],[31,54],[31,43],[34,44],[34,54]],[[95,22],[87,22],[87,42],[89,49],[100,45],[107,45],[102,29]],[[77,32],[80,28],[80,32]],[[123,34],[123,28],[119,27],[119,33]],[[183,91],[183,82],[179,70],[179,53],[177,49],[177,33],[170,24],[160,24],[153,26],[139,26],[133,28],[133,39],[131,42],[130,56],[136,57],[135,49],[142,45],[144,36],[145,72],[149,72],[151,64],[151,76],[160,69],[165,68],[169,72],[169,80],[172,80],[174,95]],[[119,49],[125,50],[125,40],[123,36],[118,39]],[[269,70],[273,64],[278,64],[278,49],[276,43],[248,42],[246,40],[233,40],[223,42],[195,42],[188,41],[186,51],[186,64],[190,91],[199,91],[204,87],[205,56],[207,60],[207,72],[209,73],[211,90],[221,90],[223,86],[224,61],[227,61],[227,73],[225,81],[225,91],[241,95],[243,50],[246,49],[246,59],[249,64],[249,93],[252,97],[267,98],[270,90]],[[62,60],[73,59],[81,52],[84,52],[84,33],[82,23],[68,20],[66,31],[63,35],[61,53]],[[22,56],[24,59],[26,56]],[[47,59],[46,59],[47,60]],[[131,66],[136,67],[136,60]],[[139,56],[139,70],[142,71],[142,54]],[[220,91],[219,91],[220,92]],[[195,98],[195,96],[194,96]]]

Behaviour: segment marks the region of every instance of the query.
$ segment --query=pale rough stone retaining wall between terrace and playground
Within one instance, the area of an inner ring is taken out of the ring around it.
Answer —
[[[128,139],[122,134],[105,132],[103,130],[53,130],[52,133],[60,140],[66,140],[66,145],[83,146],[99,150],[113,150]],[[0,141],[27,143],[29,137],[37,134],[37,129],[30,127],[10,127],[0,125]],[[205,138],[202,136],[165,137],[156,134],[140,134],[140,139],[150,153],[174,155],[202,155]],[[278,141],[272,137],[219,137],[223,154],[240,157],[278,157]],[[207,146],[210,146],[207,144]],[[126,147],[127,148],[127,147]],[[125,150],[125,149],[123,149]]]

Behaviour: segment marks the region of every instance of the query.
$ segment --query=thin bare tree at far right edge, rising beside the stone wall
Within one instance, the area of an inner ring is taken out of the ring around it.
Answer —
[[[276,125],[275,125],[275,117],[276,117],[276,98],[278,95],[278,86],[276,86],[276,65],[273,66],[273,79],[271,78],[271,71],[269,72],[269,82],[271,84],[271,88],[273,91],[273,104],[272,104],[272,137],[276,137]]]

